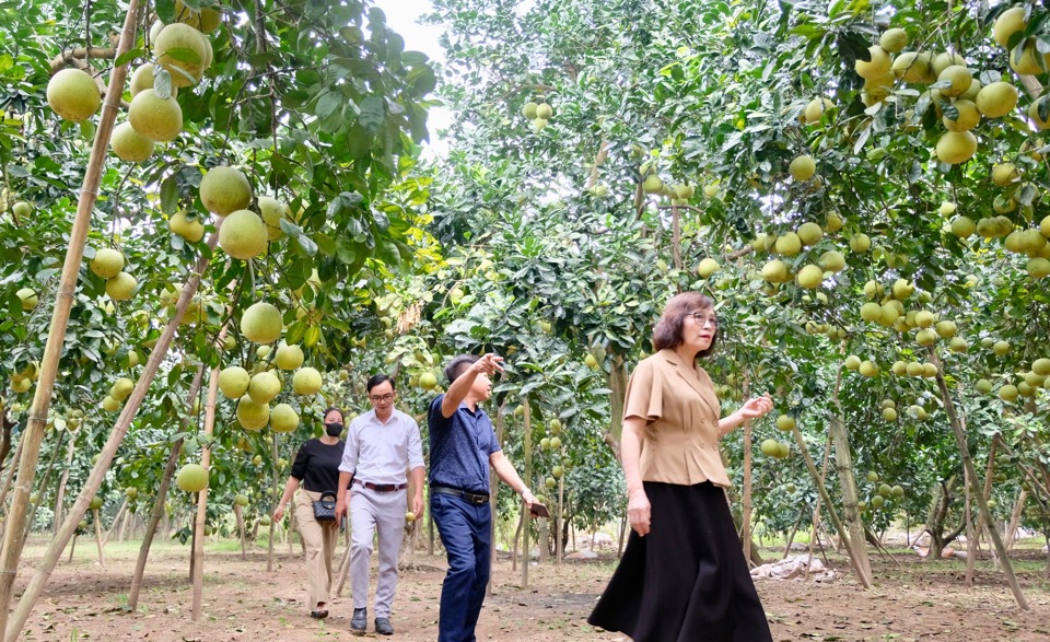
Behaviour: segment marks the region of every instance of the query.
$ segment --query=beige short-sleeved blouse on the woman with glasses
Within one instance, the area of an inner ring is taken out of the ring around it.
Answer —
[[[711,377],[682,364],[674,350],[642,360],[627,384],[623,419],[646,421],[642,435],[643,481],[728,487],[719,453],[721,407]]]

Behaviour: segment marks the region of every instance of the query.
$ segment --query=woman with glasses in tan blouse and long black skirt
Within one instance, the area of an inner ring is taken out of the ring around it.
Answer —
[[[631,536],[587,621],[634,642],[767,642],[772,637],[726,503],[719,439],[769,412],[769,395],[721,418],[697,359],[714,350],[710,299],[678,294],[631,374],[620,441]]]

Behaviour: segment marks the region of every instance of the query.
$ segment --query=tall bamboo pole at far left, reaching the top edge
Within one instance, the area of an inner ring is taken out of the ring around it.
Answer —
[[[129,0],[128,12],[125,16],[124,32],[117,47],[117,58],[135,46],[135,26],[138,16],[138,0]],[[113,69],[112,86],[124,86],[128,66],[120,65]],[[77,282],[80,279],[80,268],[84,259],[84,244],[88,240],[88,230],[91,226],[91,212],[98,198],[98,186],[102,184],[102,174],[109,151],[109,138],[113,135],[114,122],[120,108],[120,92],[109,92],[102,107],[98,118],[98,128],[92,144],[91,160],[84,172],[84,182],[80,190],[80,200],[77,205],[77,215],[69,235],[69,246],[66,250],[66,260],[59,279],[55,307],[51,312],[51,325],[40,359],[40,373],[36,382],[36,392],[33,395],[33,405],[30,410],[30,420],[22,434],[25,447],[22,459],[19,462],[19,476],[14,486],[14,501],[8,513],[8,527],[3,532],[3,545],[0,547],[0,631],[5,631],[5,638],[14,640],[22,630],[23,622],[16,622],[11,628],[8,625],[11,597],[14,590],[14,579],[19,572],[19,562],[22,559],[22,549],[25,539],[22,537],[25,518],[30,504],[30,493],[36,476],[36,464],[39,459],[40,442],[44,439],[44,427],[47,422],[47,410],[51,402],[55,388],[55,378],[58,375],[59,358],[66,345],[66,330],[69,327],[70,311],[73,306]],[[108,462],[107,462],[108,464]],[[82,511],[83,509],[81,509]],[[81,512],[81,514],[83,514]],[[80,518],[78,517],[78,522]],[[70,532],[69,535],[72,533]],[[69,535],[67,535],[67,540]],[[58,549],[61,555],[66,540]],[[56,559],[51,562],[54,567]],[[23,594],[23,600],[25,594]],[[35,598],[33,598],[35,602]]]

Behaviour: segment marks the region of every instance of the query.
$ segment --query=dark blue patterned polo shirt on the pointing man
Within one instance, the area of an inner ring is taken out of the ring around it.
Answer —
[[[502,448],[492,420],[480,406],[471,412],[459,404],[448,418],[441,413],[444,395],[430,402],[430,485],[488,494],[489,455]]]

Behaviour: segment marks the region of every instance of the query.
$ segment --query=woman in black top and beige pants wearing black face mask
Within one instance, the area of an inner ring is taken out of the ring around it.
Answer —
[[[339,536],[339,523],[314,518],[314,502],[323,492],[336,493],[339,485],[339,463],[346,444],[339,439],[343,430],[342,410],[325,410],[325,435],[313,439],[299,448],[292,474],[284,485],[284,494],[273,511],[273,520],[284,517],[284,506],[295,490],[303,492],[295,499],[295,522],[306,545],[306,585],[310,617],[328,617],[328,592],[331,587],[331,557]],[[350,493],[347,493],[349,498]]]

